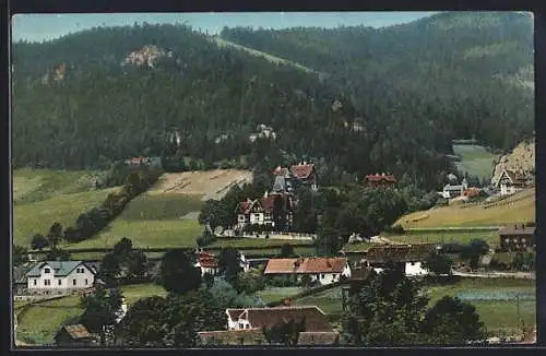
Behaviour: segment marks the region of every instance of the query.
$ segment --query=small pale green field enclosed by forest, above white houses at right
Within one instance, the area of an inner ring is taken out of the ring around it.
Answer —
[[[498,154],[487,151],[484,146],[473,144],[454,144],[453,152],[461,158],[456,162],[456,168],[461,173],[468,173],[471,176],[478,176],[480,179],[490,179],[494,163]]]

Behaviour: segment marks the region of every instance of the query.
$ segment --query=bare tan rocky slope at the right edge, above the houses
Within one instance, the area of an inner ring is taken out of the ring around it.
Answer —
[[[495,185],[502,169],[523,171],[525,175],[534,175],[535,171],[535,140],[520,143],[509,154],[502,155],[492,171],[491,183]]]

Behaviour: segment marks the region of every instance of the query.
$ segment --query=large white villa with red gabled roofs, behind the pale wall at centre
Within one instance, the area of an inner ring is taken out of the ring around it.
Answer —
[[[235,229],[244,229],[249,225],[262,225],[270,228],[275,227],[275,205],[280,207],[280,216],[292,225],[293,221],[293,203],[290,197],[283,193],[265,192],[263,198],[257,200],[247,199],[237,205],[237,224]]]

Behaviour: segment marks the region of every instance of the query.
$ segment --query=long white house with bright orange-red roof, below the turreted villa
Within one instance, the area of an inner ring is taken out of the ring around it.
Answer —
[[[307,274],[311,282],[327,285],[351,277],[351,268],[346,258],[270,259],[263,274],[296,275],[298,280]]]

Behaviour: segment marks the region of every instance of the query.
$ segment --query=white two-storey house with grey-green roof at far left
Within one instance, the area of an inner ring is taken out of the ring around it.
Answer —
[[[82,261],[45,261],[26,273],[28,294],[67,295],[93,287],[96,271]]]

